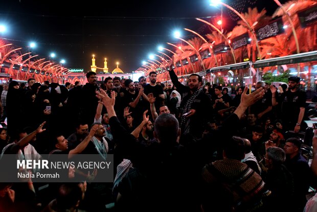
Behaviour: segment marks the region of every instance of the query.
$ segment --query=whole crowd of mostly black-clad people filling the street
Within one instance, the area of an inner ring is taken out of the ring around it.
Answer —
[[[155,72],[149,83],[98,84],[88,72],[84,86],[4,84],[2,156],[114,154],[115,180],[75,172],[79,183],[2,182],[0,211],[316,211],[317,197],[306,195],[316,188],[317,132],[306,157],[296,136],[307,128],[299,77],[285,89],[259,81],[232,99],[198,74],[186,85],[169,74],[167,84]]]

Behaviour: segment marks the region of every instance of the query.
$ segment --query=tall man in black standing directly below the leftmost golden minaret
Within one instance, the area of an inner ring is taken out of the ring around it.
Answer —
[[[98,98],[96,97],[96,91],[99,91],[97,85],[97,76],[95,72],[88,72],[86,74],[88,82],[82,88],[82,120],[88,124],[93,123],[95,112],[98,106]]]

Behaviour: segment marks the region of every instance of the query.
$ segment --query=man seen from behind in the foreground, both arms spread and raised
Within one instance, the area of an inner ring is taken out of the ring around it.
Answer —
[[[189,153],[177,143],[180,135],[177,119],[171,114],[160,115],[154,123],[154,137],[157,142],[137,142],[117,118],[114,110],[115,92],[111,93],[111,98],[103,90],[96,94],[107,109],[117,145],[121,145],[129,153],[127,159],[131,160],[134,167],[118,185],[116,207],[119,210],[162,211],[168,205],[169,209],[175,211],[199,210],[200,203],[193,194],[197,192],[196,179],[200,170],[191,166],[193,161],[188,157]],[[246,108],[263,95],[261,89],[250,95],[246,95],[246,89],[244,90],[241,104],[229,117],[228,124],[224,124],[226,136],[230,136]],[[148,117],[144,117],[144,124],[147,121]],[[225,143],[227,140],[223,141]]]

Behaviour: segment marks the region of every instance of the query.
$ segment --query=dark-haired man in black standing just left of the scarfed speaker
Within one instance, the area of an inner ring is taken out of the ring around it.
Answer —
[[[163,93],[163,88],[162,86],[159,86],[158,84],[156,84],[156,72],[151,71],[150,72],[150,83],[147,84],[144,87],[144,93],[146,95],[152,93],[154,98],[155,98],[155,109],[159,110],[160,105],[164,104],[164,93]]]

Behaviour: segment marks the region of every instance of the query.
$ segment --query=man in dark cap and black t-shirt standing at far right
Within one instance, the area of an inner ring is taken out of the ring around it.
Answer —
[[[283,130],[300,131],[305,114],[306,92],[299,90],[300,78],[297,76],[288,77],[288,90],[280,98],[277,96],[277,88],[270,86],[272,92],[272,104],[282,106]]]

